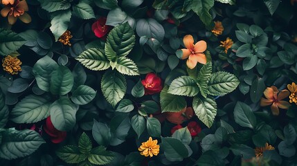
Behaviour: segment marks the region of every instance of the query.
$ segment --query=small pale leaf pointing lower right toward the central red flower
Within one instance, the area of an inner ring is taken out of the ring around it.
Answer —
[[[116,63],[116,70],[125,75],[139,75],[136,64],[127,57],[119,57]]]

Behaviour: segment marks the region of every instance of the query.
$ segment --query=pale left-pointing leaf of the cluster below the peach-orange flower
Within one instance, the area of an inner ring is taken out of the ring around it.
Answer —
[[[171,93],[172,95],[186,95],[192,97],[199,93],[199,87],[192,77],[181,76],[171,82],[168,93]]]

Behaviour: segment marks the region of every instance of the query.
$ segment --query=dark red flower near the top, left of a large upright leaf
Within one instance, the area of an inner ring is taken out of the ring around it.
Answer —
[[[109,30],[111,30],[111,26],[107,26],[106,24],[106,18],[100,17],[96,22],[92,25],[92,30],[95,33],[96,37],[104,37]]]

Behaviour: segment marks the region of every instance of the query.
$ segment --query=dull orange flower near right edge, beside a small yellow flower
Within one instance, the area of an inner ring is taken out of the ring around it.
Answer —
[[[261,98],[260,105],[261,107],[271,105],[271,112],[274,116],[278,116],[280,109],[288,109],[290,107],[289,102],[282,101],[284,98],[289,96],[288,90],[278,91],[276,86],[267,87],[264,91],[266,98]]]

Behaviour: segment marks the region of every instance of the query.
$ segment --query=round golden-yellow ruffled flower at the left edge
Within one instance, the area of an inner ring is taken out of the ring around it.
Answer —
[[[7,71],[11,75],[15,75],[21,71],[21,61],[17,59],[17,57],[11,57],[8,55],[2,59],[2,63],[3,70]]]

